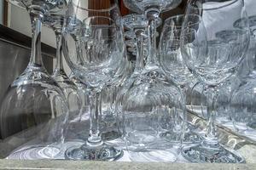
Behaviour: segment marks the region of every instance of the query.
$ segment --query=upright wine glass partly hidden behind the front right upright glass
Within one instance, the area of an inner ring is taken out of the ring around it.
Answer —
[[[159,51],[160,64],[163,70],[166,71],[167,76],[171,77],[172,81],[175,82],[179,88],[181,88],[183,97],[186,100],[186,91],[189,90],[189,83],[196,82],[197,80],[189,71],[188,67],[184,64],[180,52],[180,34],[182,31],[183,18],[184,15],[182,14],[170,17],[165,20],[165,24],[163,26],[160,37]],[[178,115],[176,118],[177,121],[175,122],[181,123],[178,121]],[[199,143],[201,141],[201,137],[197,133],[190,131],[186,123],[186,117],[184,118],[186,129],[183,135],[183,144]],[[176,126],[179,127],[180,125]],[[180,133],[183,132],[174,130],[171,132],[163,133],[161,135],[163,138],[166,138],[170,141],[178,140],[179,142],[180,139],[178,139],[177,136],[180,136]]]

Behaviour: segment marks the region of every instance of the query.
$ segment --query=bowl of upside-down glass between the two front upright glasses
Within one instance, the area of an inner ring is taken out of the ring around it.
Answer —
[[[146,77],[143,71],[134,74],[137,77],[131,78],[133,82],[126,84],[118,98],[125,116],[125,143],[130,159],[176,161],[180,143],[166,141],[160,134],[172,130],[174,116],[183,117],[183,95],[165,77],[160,79],[158,72],[149,72]]]

